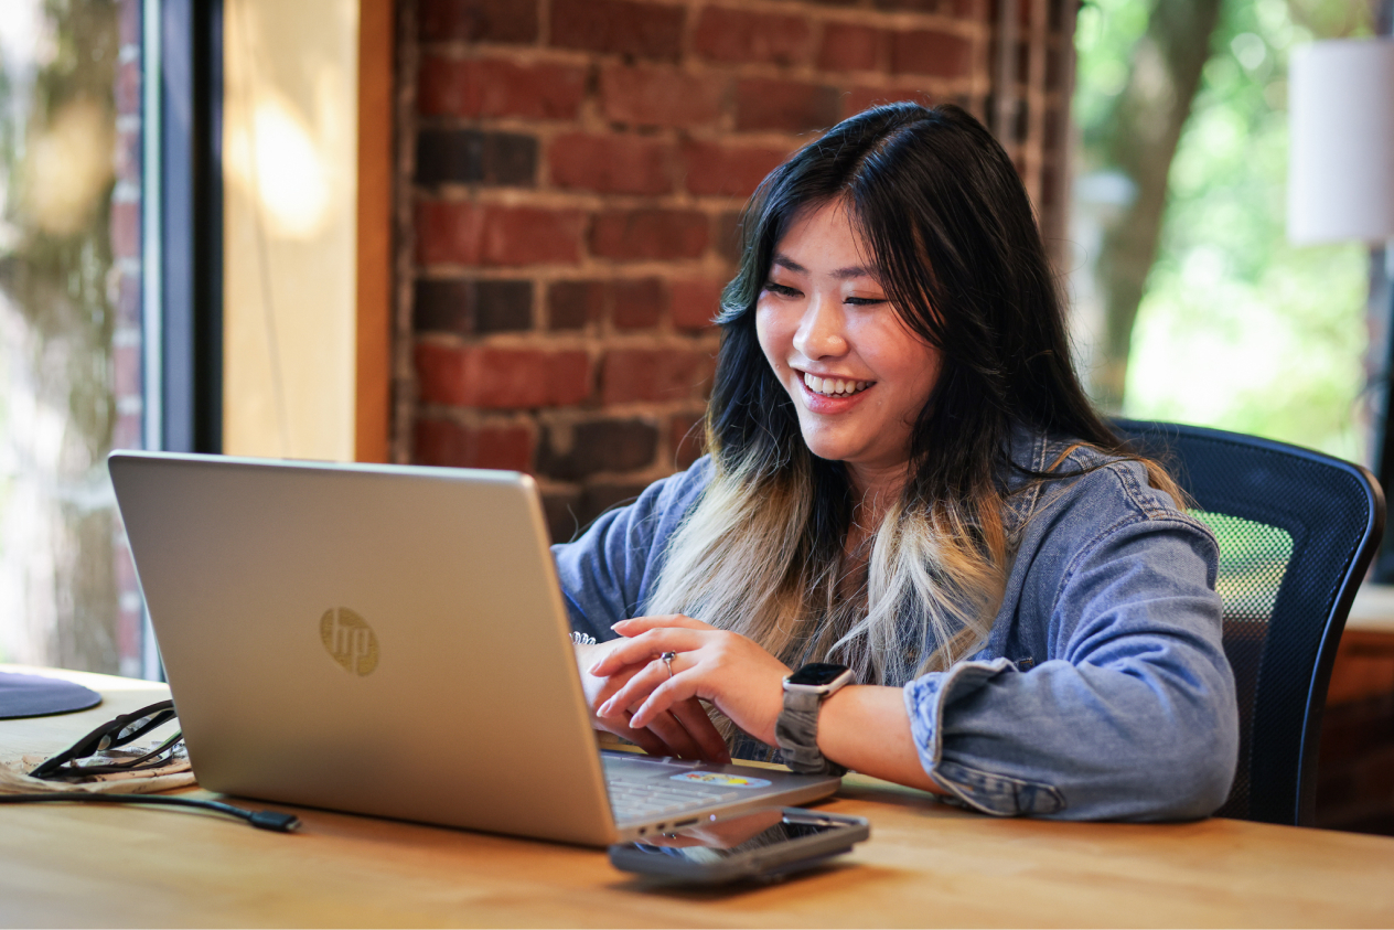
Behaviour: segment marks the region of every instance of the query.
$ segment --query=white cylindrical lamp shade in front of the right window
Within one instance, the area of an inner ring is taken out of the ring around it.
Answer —
[[[1288,240],[1394,237],[1394,39],[1299,47],[1288,86]]]

